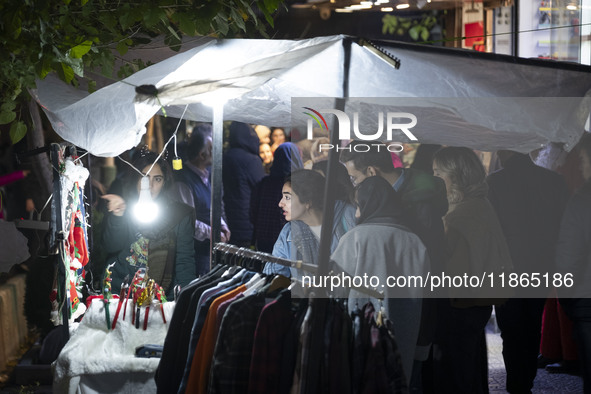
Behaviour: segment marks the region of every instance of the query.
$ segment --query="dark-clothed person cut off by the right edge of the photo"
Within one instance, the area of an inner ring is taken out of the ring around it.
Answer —
[[[570,275],[574,285],[557,291],[561,297],[572,297],[560,303],[574,323],[583,388],[591,393],[591,135],[585,133],[578,148],[585,183],[568,201],[556,246],[557,271]]]

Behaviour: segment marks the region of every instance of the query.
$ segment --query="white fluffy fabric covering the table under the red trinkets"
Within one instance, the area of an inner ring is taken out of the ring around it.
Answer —
[[[168,324],[162,321],[159,309],[150,308],[148,328],[144,331],[145,308],[142,308],[140,328],[136,329],[131,323],[131,301],[128,302],[125,320],[122,319],[122,307],[117,327],[107,330],[104,303],[93,300],[82,322],[71,333],[70,340],[52,364],[54,392],[82,392],[83,382],[89,382],[89,387],[96,387],[99,381],[103,383],[100,387],[103,392],[146,392],[145,385],[152,382],[160,359],[135,357],[135,349],[147,344],[163,345]],[[118,300],[112,300],[109,304],[111,321],[115,317],[117,303]],[[172,317],[174,305],[174,302],[164,304],[167,323]],[[100,375],[108,378],[99,379]],[[146,381],[147,376],[150,379]],[[135,391],[130,391],[132,389]]]

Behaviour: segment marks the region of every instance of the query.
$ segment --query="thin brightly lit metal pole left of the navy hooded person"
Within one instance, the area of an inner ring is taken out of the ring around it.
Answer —
[[[220,242],[222,230],[222,153],[224,147],[224,103],[213,105],[213,137],[212,137],[212,163],[211,163],[211,239],[209,245],[209,268],[213,261],[213,247]]]

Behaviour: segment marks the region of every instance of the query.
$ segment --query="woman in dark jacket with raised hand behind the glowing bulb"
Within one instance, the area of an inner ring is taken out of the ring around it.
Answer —
[[[157,218],[142,223],[135,217],[132,208],[138,199],[142,176],[130,169],[121,196],[102,196],[108,211],[102,247],[108,256],[107,265],[114,263],[113,293],[119,292],[125,277],[131,282],[138,269],[148,268],[148,276],[162,286],[168,299],[173,299],[176,285],[185,286],[196,277],[191,237],[193,212],[191,207],[169,198],[172,170],[164,159],[156,158],[155,153],[148,152],[133,165],[150,180],[150,194],[159,206]],[[156,164],[152,167],[153,163]]]

